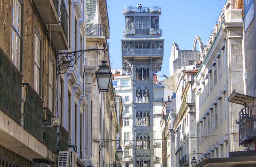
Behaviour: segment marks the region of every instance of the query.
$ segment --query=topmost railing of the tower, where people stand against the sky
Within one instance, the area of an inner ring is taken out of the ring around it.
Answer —
[[[161,14],[160,6],[142,6],[141,9],[137,6],[125,6],[123,14],[125,13],[159,13]]]

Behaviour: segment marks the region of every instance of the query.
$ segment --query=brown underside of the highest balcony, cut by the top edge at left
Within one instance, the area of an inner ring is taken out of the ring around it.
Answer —
[[[59,23],[58,0],[33,0],[44,24]]]

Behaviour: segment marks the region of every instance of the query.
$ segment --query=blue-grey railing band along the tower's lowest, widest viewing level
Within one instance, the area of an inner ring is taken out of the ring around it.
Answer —
[[[159,55],[163,56],[163,49],[122,49],[123,56],[150,56],[150,55]]]

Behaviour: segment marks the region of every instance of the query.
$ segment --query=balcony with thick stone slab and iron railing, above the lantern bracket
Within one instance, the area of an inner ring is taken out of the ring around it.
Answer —
[[[68,13],[64,0],[61,0],[60,13],[60,22],[53,24],[51,21],[51,24],[46,24],[46,27],[51,33],[52,43],[56,50],[68,50]]]

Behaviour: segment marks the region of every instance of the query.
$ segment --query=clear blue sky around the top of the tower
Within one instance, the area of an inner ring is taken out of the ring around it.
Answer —
[[[158,75],[169,74],[169,57],[172,43],[176,43],[181,50],[191,50],[196,36],[206,45],[215,22],[226,0],[107,0],[110,39],[109,53],[111,68],[122,68],[121,39],[125,29],[125,6],[158,5],[162,9],[159,17],[160,29],[165,39],[162,69]],[[162,78],[161,78],[162,79]]]

